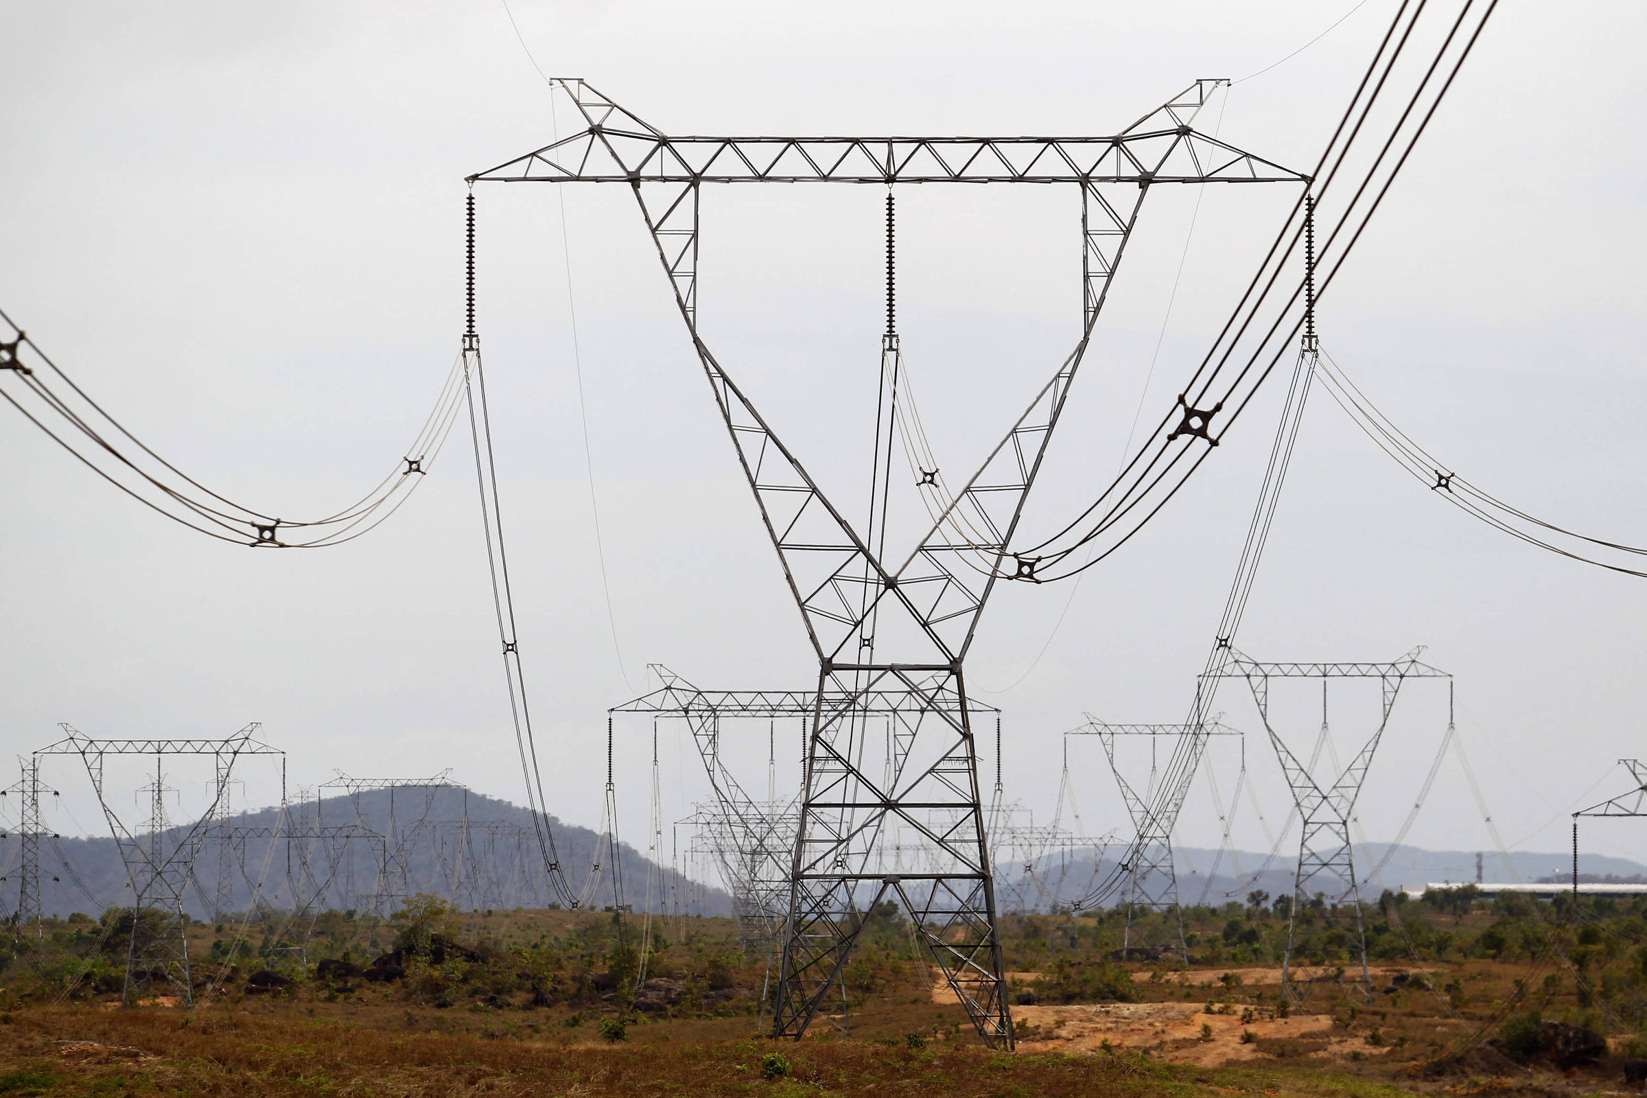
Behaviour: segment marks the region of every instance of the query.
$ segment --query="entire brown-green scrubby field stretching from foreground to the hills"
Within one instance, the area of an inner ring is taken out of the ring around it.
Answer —
[[[1291,996],[1285,919],[1262,902],[1186,910],[1189,965],[1117,955],[1115,912],[1013,915],[1008,1054],[980,1045],[896,910],[870,915],[845,1003],[799,1044],[758,1032],[766,961],[723,919],[420,897],[384,922],[193,924],[196,1006],[156,984],[120,1009],[133,920],[114,910],[0,938],[0,1096],[1622,1093],[1644,914],[1385,897],[1367,994],[1319,912]],[[1606,1047],[1565,1062],[1551,1024]]]

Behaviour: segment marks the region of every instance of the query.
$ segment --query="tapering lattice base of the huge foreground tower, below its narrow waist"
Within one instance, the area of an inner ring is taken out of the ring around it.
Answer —
[[[863,711],[871,696],[881,706],[896,698],[894,714],[871,721]],[[868,762],[871,747],[888,765]],[[995,877],[959,668],[825,667],[802,780],[774,1035],[805,1032],[871,920],[907,917],[978,1035],[1010,1049]],[[927,848],[922,872],[896,864],[901,831]]]

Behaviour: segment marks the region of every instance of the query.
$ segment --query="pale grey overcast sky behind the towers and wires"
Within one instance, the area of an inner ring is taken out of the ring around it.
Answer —
[[[514,15],[545,72],[586,77],[664,132],[1084,135],[1196,77],[1260,72],[1351,7],[514,0]],[[1392,10],[1370,0],[1197,125],[1306,170]],[[572,125],[563,102],[552,117],[504,7],[10,0],[0,20],[0,306],[229,495],[323,514],[376,482],[458,349],[463,176]],[[1456,469],[1635,545],[1644,31],[1635,3],[1505,0],[1321,319],[1334,357]],[[1079,206],[1052,188],[904,191],[904,351],[959,469],[1074,342]],[[1191,188],[1151,194],[1033,523],[1062,525],[1120,464],[1140,407],[1148,423],[1171,405],[1291,198],[1211,188],[1197,209]],[[853,500],[878,367],[879,202],[878,188],[705,198],[705,334]],[[815,662],[626,189],[494,184],[479,209],[479,328],[545,784],[555,813],[595,823],[604,711],[649,688],[646,663],[705,686],[807,688]],[[1079,589],[1011,584],[985,616],[970,685],[1005,710],[1008,793],[1038,820],[1084,711],[1186,713],[1278,398]],[[28,752],[58,721],[92,736],[264,721],[293,785],[453,767],[519,802],[464,446],[455,436],[371,537],[250,553],[165,523],[0,415],[0,744]],[[1502,838],[1561,849],[1566,813],[1622,792],[1614,761],[1640,751],[1644,609],[1642,581],[1472,525],[1318,398],[1237,644],[1308,660],[1430,645],[1458,677],[1459,731]],[[1278,728],[1308,744],[1319,696],[1301,690],[1278,701]],[[1352,752],[1375,703],[1346,686],[1331,705]],[[1222,708],[1260,731],[1234,690]],[[1369,779],[1369,838],[1395,833],[1444,724],[1446,691],[1410,685]],[[626,838],[642,840],[649,729],[618,734]],[[764,785],[766,736],[730,751]],[[664,729],[662,756],[677,818],[705,790],[679,729]],[[1247,761],[1275,828],[1288,802],[1273,754],[1248,736]],[[1235,762],[1217,762],[1227,795]],[[1082,823],[1120,825],[1095,744],[1071,764]],[[100,831],[84,774],[64,762],[48,780],[64,792],[61,830]],[[180,815],[203,780],[178,770]],[[247,800],[273,798],[268,772],[245,780]],[[1181,841],[1217,844],[1211,803],[1197,790]],[[1235,835],[1268,846],[1250,812]],[[1456,761],[1408,840],[1492,849]],[[1647,853],[1627,825],[1598,826],[1596,848]]]

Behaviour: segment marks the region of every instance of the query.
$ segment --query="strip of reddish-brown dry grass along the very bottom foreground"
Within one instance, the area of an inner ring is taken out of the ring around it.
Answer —
[[[1133,1054],[1011,1055],[975,1045],[822,1037],[484,1040],[308,1021],[168,1009],[33,1009],[0,1024],[0,1095],[1395,1095],[1319,1070],[1194,1068]],[[413,1026],[420,1019],[412,1019]],[[685,1037],[685,1034],[682,1034]],[[772,1054],[786,1073],[769,1073]]]

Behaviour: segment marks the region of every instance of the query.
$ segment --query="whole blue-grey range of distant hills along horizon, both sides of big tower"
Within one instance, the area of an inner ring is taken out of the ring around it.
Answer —
[[[249,833],[227,854],[222,844],[208,841],[196,858],[184,900],[196,919],[212,914],[217,884],[224,877],[229,881],[229,910],[250,907],[254,896],[277,909],[292,909],[295,897],[320,897],[320,907],[384,912],[399,909],[399,897],[412,892],[435,892],[464,909],[547,907],[557,900],[544,872],[532,815],[506,800],[461,789],[425,792],[407,787],[310,802],[306,815],[293,810],[293,825],[315,838],[292,843],[257,833],[257,828],[275,828],[275,808],[240,813],[232,823]],[[560,864],[573,887],[581,887],[600,836],[553,817],[548,823]],[[354,838],[346,836],[351,828]],[[168,831],[166,848],[184,831]],[[400,848],[385,848],[366,833],[399,835],[405,841]],[[16,905],[16,846],[15,836],[0,841],[0,915]],[[1255,891],[1271,897],[1290,894],[1295,858],[1291,849],[1271,859],[1253,851],[1219,856],[1215,849],[1179,846],[1179,899],[1184,904],[1224,904],[1245,900]],[[48,841],[41,863],[41,899],[48,914],[97,914],[110,905],[130,904],[125,866],[110,838]],[[1471,882],[1476,879],[1476,853],[1367,843],[1355,848],[1355,869],[1362,879],[1370,877],[1362,896],[1377,899],[1380,891],[1403,884]],[[1647,864],[1601,854],[1584,854],[1579,869],[1581,879],[1647,877]],[[998,905],[1003,912],[1049,910],[1054,902],[1089,894],[1113,871],[1112,858],[1094,863],[1090,854],[1079,853],[1043,858],[1028,877],[1021,864],[998,864]],[[1491,853],[1482,856],[1487,881],[1530,882],[1566,872],[1571,872],[1570,853],[1515,853],[1509,861]],[[731,897],[718,882],[675,881],[667,866],[652,864],[628,843],[619,844],[616,872],[613,866],[601,868],[588,902],[595,907],[614,904],[613,889],[619,879],[623,902],[636,910],[657,909],[664,896],[665,904],[677,902],[695,914],[733,912]],[[674,892],[665,892],[670,887]],[[1120,899],[1113,896],[1110,902]]]

